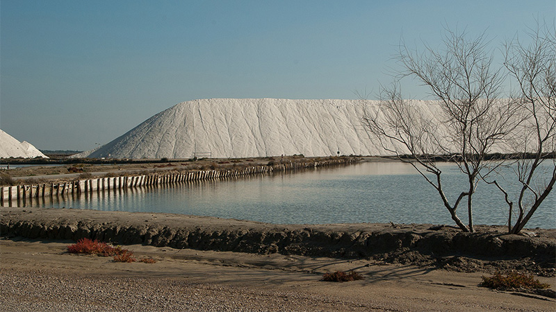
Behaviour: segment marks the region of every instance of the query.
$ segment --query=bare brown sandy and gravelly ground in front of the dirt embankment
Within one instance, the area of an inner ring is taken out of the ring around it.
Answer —
[[[69,254],[70,243],[0,241],[0,311],[556,311],[556,300],[479,287],[481,272],[145,245],[125,248],[156,263],[115,263]],[[320,281],[352,269],[365,279]]]

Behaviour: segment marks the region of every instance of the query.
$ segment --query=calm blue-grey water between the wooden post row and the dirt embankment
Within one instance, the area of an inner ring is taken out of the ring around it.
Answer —
[[[442,170],[445,191],[453,201],[461,190],[458,184],[465,182],[457,179],[461,175],[454,164],[442,164]],[[33,200],[26,205],[167,212],[268,223],[453,224],[434,189],[411,166],[399,162],[110,191]],[[466,202],[458,214],[466,223]],[[496,188],[482,183],[477,189],[474,223],[507,223],[507,207]],[[556,227],[556,191],[543,202],[528,227]]]

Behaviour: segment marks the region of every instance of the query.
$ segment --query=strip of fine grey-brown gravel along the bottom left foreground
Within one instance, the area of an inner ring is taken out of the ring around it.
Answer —
[[[319,295],[185,279],[61,276],[45,270],[0,273],[0,311],[385,311]]]

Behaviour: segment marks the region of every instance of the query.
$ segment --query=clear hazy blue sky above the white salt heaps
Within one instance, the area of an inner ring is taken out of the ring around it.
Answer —
[[[556,0],[0,0],[0,129],[88,150],[198,98],[357,98],[391,82],[401,37],[500,46],[555,16]]]

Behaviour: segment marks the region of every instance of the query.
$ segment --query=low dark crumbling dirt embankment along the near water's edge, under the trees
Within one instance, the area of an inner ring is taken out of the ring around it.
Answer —
[[[8,237],[90,238],[122,245],[370,258],[462,272],[521,270],[556,275],[556,229],[509,235],[504,227],[478,226],[470,234],[432,225],[272,225],[122,211],[12,207],[0,211],[0,232]]]

